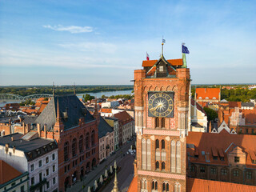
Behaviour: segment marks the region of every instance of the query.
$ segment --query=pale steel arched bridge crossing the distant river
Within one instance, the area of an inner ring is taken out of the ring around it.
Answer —
[[[50,98],[52,94],[31,94],[25,97],[18,94],[0,94],[0,102],[24,102],[27,99],[37,100],[38,98]]]

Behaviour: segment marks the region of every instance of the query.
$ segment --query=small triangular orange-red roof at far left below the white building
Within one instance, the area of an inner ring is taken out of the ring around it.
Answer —
[[[17,178],[22,173],[14,169],[8,163],[0,160],[0,185],[9,182],[11,179]]]

